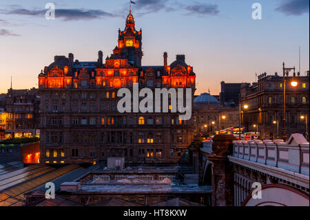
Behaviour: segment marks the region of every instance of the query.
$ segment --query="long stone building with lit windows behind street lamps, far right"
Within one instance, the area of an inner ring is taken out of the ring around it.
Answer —
[[[293,133],[306,132],[302,115],[309,115],[309,75],[296,77],[298,86],[291,87],[288,77],[286,86],[287,137]],[[249,108],[242,111],[242,124],[247,130],[260,132],[261,137],[282,137],[283,85],[282,76],[267,73],[258,76],[258,83],[241,88],[241,102]],[[308,117],[309,119],[309,117]],[[254,125],[258,127],[254,128]]]

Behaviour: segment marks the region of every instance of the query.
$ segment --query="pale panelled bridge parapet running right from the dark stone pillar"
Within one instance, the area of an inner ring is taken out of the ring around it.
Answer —
[[[233,141],[233,157],[309,176],[309,143]]]

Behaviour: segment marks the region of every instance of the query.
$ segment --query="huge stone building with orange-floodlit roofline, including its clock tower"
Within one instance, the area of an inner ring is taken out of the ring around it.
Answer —
[[[185,55],[167,65],[142,65],[142,30],[130,12],[117,46],[103,61],[74,61],[55,56],[39,74],[41,97],[41,162],[96,163],[107,157],[133,162],[173,162],[184,159],[194,138],[193,120],[179,121],[176,113],[119,113],[119,88],[192,88],[196,74]],[[55,153],[51,153],[55,152]]]

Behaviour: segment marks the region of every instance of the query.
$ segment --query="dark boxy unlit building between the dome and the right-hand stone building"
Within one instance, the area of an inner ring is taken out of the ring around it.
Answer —
[[[222,81],[220,83],[220,103],[234,102],[238,104],[242,84],[243,83],[225,83],[225,81]]]

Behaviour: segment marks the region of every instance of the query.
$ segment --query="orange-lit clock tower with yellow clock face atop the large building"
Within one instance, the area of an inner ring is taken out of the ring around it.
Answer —
[[[142,52],[142,30],[137,31],[132,11],[127,15],[125,30],[118,30],[118,49],[128,59],[128,63],[141,67]]]

